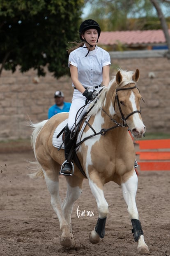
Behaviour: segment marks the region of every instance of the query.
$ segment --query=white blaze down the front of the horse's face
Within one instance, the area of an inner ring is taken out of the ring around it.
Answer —
[[[135,94],[133,92],[131,92],[131,96],[129,98],[129,101],[131,101],[131,104],[132,104],[132,111],[136,111],[137,107],[136,107],[136,102],[135,102]],[[132,116],[133,116],[134,128],[139,130],[139,131],[142,131],[145,126],[144,126],[142,120],[140,119],[139,113],[134,113]]]

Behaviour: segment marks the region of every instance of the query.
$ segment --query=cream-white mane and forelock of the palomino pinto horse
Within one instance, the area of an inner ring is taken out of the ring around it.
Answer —
[[[121,68],[118,68],[117,70],[120,71],[120,73],[122,75],[122,81],[119,83],[119,85],[117,85],[117,83],[116,83],[116,74],[118,72],[117,71],[117,72],[114,73],[112,79],[110,80],[108,87],[103,86],[102,91],[100,93],[98,91],[94,92],[93,95],[94,95],[94,97],[96,96],[96,98],[90,104],[89,110],[90,110],[90,108],[92,108],[92,109],[90,110],[90,112],[88,113],[87,116],[96,115],[96,113],[99,112],[99,110],[101,109],[104,101],[106,100],[106,94],[109,91],[110,87],[113,86],[113,84],[115,84],[115,89],[124,87],[125,85],[130,84],[130,83],[135,83],[136,84],[136,82],[132,78],[133,74],[134,74],[134,71],[122,70]]]

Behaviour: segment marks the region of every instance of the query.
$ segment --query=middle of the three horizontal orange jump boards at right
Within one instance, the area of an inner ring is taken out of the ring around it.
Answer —
[[[139,160],[170,160],[169,151],[138,151],[136,155],[139,155]]]

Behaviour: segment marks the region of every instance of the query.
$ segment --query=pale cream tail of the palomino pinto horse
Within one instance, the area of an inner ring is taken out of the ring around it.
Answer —
[[[33,124],[31,121],[29,123],[29,126],[33,128],[33,132],[31,134],[31,146],[32,146],[32,149],[34,151],[34,156],[35,156],[35,159],[36,159],[36,154],[35,154],[35,143],[36,143],[36,139],[37,139],[37,136],[39,134],[39,132],[41,131],[42,127],[44,126],[44,124],[46,124],[48,120],[44,120],[42,122],[39,122],[39,123],[36,123],[36,124]],[[36,167],[33,169],[34,172],[32,172],[31,174],[29,174],[28,176],[30,178],[37,178],[37,177],[40,177],[40,178],[44,178],[44,173],[43,173],[43,170],[42,170],[42,167],[41,165],[39,164],[39,162],[36,160],[35,162],[31,162],[29,161],[31,164],[34,164]]]

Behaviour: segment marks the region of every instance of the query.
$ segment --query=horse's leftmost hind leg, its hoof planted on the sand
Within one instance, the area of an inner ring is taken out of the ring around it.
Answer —
[[[57,214],[58,220],[60,222],[60,230],[62,231],[62,236],[60,239],[60,244],[65,247],[71,247],[73,244],[73,234],[70,232],[69,224],[64,218],[62,212],[62,204],[59,196],[59,181],[58,175],[53,171],[44,171],[44,178],[46,181],[46,186],[51,194],[51,204]]]

